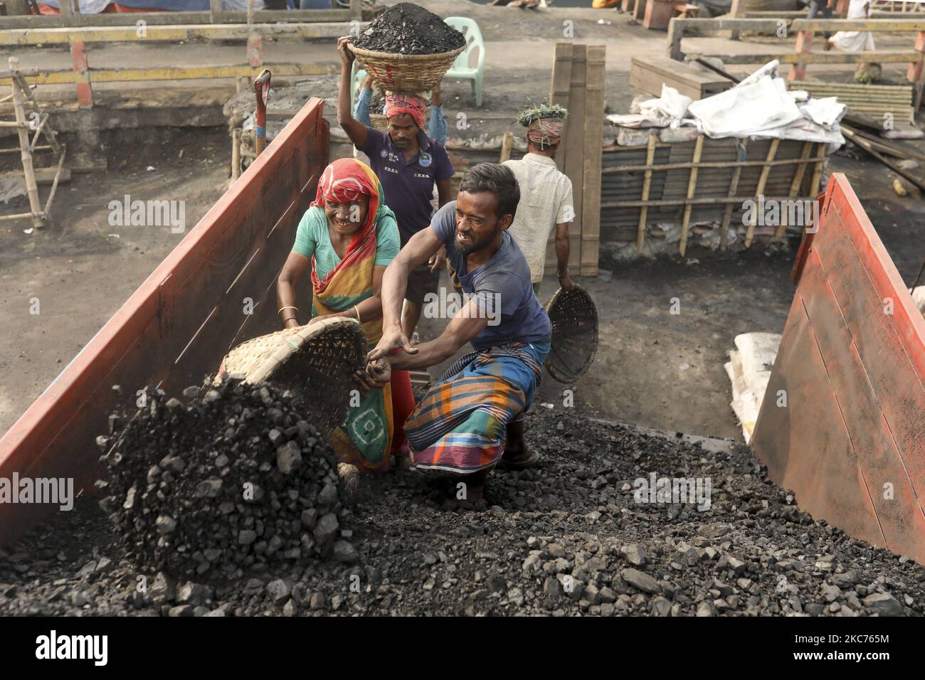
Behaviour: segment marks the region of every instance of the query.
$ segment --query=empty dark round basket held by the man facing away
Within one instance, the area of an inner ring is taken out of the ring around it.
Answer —
[[[591,366],[598,351],[598,308],[581,286],[559,289],[546,303],[552,340],[546,369],[564,383],[573,383]]]

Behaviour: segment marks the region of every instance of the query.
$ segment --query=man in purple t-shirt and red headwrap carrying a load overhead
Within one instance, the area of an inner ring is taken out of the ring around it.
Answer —
[[[430,224],[433,213],[431,199],[437,185],[440,206],[450,201],[450,180],[453,166],[443,145],[430,139],[425,131],[426,103],[409,93],[386,94],[388,131],[374,130],[353,117],[350,110],[351,68],[353,53],[347,48],[349,37],[340,38],[340,86],[338,93],[338,123],[353,145],[369,156],[386,192],[388,207],[398,219],[401,245],[404,246],[418,231]],[[414,268],[405,292],[405,308],[401,328],[411,338],[427,293],[436,293],[439,269],[446,251],[440,249],[422,266]]]

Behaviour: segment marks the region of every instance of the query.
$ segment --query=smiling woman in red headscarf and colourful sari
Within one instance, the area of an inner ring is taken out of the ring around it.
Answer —
[[[308,323],[331,315],[354,318],[370,349],[375,347],[382,336],[382,274],[399,248],[395,214],[382,202],[376,174],[354,158],[334,161],[318,180],[315,200],[299,222],[292,252],[279,274],[283,326],[300,326],[295,291],[311,269]],[[366,384],[363,377],[361,381]],[[359,404],[351,402],[347,419],[331,435],[331,445],[341,460],[360,468],[387,469],[393,454],[404,464],[408,444],[403,426],[413,406],[408,372],[393,372],[387,389],[373,389]]]

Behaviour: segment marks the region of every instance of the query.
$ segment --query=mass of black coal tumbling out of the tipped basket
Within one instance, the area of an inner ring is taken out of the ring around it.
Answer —
[[[126,557],[169,575],[240,577],[328,557],[336,543],[351,551],[337,463],[304,416],[269,386],[228,381],[189,404],[158,390],[117,432],[98,483]]]

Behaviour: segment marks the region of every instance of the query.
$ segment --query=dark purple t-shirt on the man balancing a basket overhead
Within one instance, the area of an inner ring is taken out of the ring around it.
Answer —
[[[370,167],[382,182],[385,204],[395,213],[399,223],[401,245],[430,224],[434,209],[434,182],[450,179],[453,166],[440,142],[435,142],[421,130],[417,135],[420,150],[405,163],[401,149],[392,143],[387,131],[366,128],[366,143],[360,149],[369,156]]]

